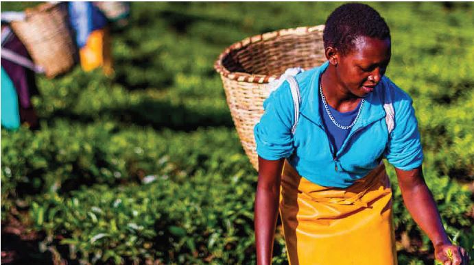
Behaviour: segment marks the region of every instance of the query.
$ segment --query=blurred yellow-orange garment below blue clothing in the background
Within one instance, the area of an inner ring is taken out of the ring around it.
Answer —
[[[79,50],[81,67],[84,71],[92,71],[102,66],[106,75],[113,73],[112,56],[110,54],[110,34],[107,28],[96,29],[89,34],[86,45]]]

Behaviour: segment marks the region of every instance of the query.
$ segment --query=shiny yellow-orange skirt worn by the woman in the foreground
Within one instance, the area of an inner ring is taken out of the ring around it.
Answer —
[[[285,161],[280,216],[290,265],[397,264],[392,188],[383,164],[348,188],[328,188]]]

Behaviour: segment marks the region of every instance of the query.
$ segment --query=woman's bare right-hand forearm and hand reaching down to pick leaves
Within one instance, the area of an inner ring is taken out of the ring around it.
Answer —
[[[466,251],[453,246],[444,227],[442,227],[440,214],[423,178],[421,166],[411,171],[403,171],[399,168],[395,168],[395,171],[405,206],[415,222],[425,231],[433,243],[436,260],[440,260],[447,265],[468,264]],[[451,249],[453,254],[452,263],[447,257],[448,249]],[[465,263],[461,263],[462,261]]]

